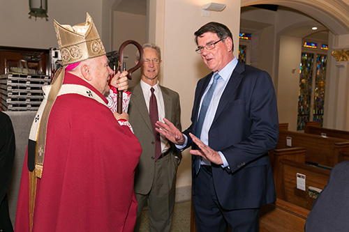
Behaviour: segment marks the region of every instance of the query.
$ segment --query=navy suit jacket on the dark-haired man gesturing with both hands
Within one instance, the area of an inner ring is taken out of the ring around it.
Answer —
[[[184,131],[187,147],[193,149],[197,148],[188,133],[195,132],[200,100],[212,74],[198,82],[192,124]],[[278,111],[271,77],[265,71],[238,62],[209,129],[208,145],[221,151],[229,164],[224,169],[212,164],[214,187],[223,208],[259,208],[276,200],[268,151],[276,146],[278,138]],[[192,175],[195,183],[193,159]]]

